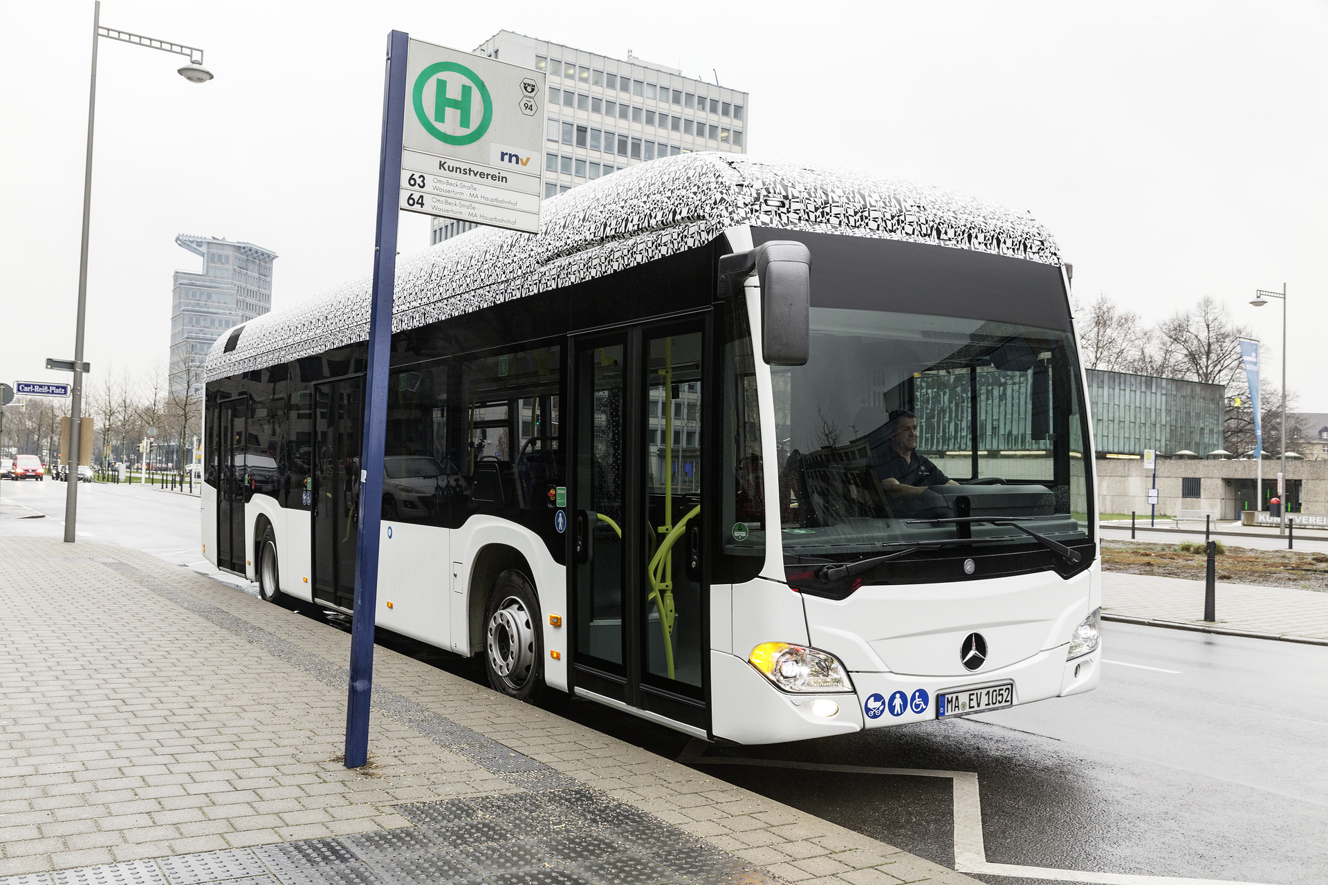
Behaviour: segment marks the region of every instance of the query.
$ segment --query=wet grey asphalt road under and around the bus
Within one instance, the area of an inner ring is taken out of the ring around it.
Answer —
[[[197,499],[126,487],[80,492],[88,492],[80,495],[81,536],[181,564],[201,559]],[[12,519],[28,512],[17,503],[50,516]],[[62,503],[61,483],[7,482],[0,533],[58,536]],[[290,608],[343,629],[348,622],[304,604]],[[795,744],[708,747],[587,701],[555,695],[542,706],[669,758],[700,754],[689,764],[946,866],[955,865],[948,778],[780,763],[975,772],[991,862],[1270,885],[1328,881],[1328,647],[1126,624],[1104,633],[1114,663],[1104,665],[1096,693]],[[380,632],[380,642],[477,675],[470,662],[412,640]],[[732,764],[738,760],[766,766]]]

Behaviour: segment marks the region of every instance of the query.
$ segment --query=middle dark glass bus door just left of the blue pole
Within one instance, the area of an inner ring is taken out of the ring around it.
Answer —
[[[355,605],[364,377],[313,385],[313,598]]]

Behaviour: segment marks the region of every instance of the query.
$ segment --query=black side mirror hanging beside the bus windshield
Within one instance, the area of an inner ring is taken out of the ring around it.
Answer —
[[[761,284],[761,353],[772,366],[806,365],[811,352],[811,253],[772,240],[720,259],[720,296],[733,297],[753,272]]]

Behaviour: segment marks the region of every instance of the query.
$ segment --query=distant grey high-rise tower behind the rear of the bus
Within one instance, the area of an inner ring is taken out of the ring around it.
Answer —
[[[171,390],[191,383],[202,394],[203,360],[212,342],[272,309],[270,252],[252,243],[181,234],[175,244],[203,259],[202,273],[175,271],[171,287]]]

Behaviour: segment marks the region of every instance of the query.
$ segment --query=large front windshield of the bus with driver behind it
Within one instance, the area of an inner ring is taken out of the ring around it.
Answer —
[[[788,564],[908,547],[1088,541],[1080,370],[1066,332],[811,308],[811,357],[773,369]],[[1064,549],[1064,548],[1062,548]]]

